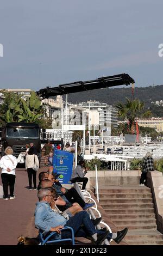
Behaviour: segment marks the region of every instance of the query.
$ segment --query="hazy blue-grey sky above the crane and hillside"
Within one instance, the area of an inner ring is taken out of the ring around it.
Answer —
[[[14,0],[0,3],[1,88],[38,90],[128,73],[163,84],[161,0]]]

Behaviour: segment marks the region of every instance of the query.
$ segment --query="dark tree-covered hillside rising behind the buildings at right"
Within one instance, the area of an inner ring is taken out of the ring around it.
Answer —
[[[90,90],[68,95],[68,102],[79,103],[87,100],[97,100],[116,106],[118,102],[126,102],[126,97],[131,99],[131,87],[108,88]],[[163,86],[135,87],[134,97],[144,102],[145,110],[150,109],[153,116],[163,117],[163,107],[151,103],[163,100]]]

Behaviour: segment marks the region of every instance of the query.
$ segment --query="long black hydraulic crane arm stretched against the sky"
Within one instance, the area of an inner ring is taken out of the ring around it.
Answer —
[[[128,86],[130,83],[134,82],[134,79],[131,78],[128,74],[120,74],[114,76],[99,77],[96,80],[60,84],[59,86],[52,88],[46,87],[44,89],[40,89],[39,92],[36,93],[43,99],[48,99],[48,97],[50,96],[79,93],[87,90],[102,89],[114,86],[122,86],[123,84],[126,84],[126,86]]]

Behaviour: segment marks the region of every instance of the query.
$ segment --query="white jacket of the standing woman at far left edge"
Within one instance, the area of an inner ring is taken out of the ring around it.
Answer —
[[[12,161],[9,159],[12,159]],[[15,156],[12,155],[6,155],[2,156],[2,159],[0,160],[0,167],[2,168],[2,173],[12,174],[15,175],[15,168],[17,166],[17,159]],[[7,168],[10,168],[10,172],[7,171]]]

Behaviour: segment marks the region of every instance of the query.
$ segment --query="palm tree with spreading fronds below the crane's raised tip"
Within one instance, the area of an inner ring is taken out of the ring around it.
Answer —
[[[137,114],[144,108],[144,103],[139,99],[130,100],[126,98],[127,103],[118,103],[118,116],[128,120],[128,132],[135,133]]]

